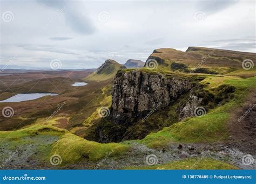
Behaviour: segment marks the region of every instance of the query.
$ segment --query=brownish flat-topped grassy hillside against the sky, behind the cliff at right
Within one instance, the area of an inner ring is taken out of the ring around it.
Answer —
[[[149,59],[156,60],[158,62],[157,68],[165,70],[179,70],[188,73],[191,70],[193,73],[207,73],[207,70],[210,70],[216,73],[226,74],[241,70],[242,61],[246,59],[255,61],[256,54],[204,47],[188,47],[186,52],[177,51],[173,48],[159,48],[154,50],[149,56]],[[181,65],[173,68],[172,63]],[[203,72],[200,70],[203,70]],[[244,70],[244,73],[247,72],[249,71]],[[251,72],[249,73],[251,74],[250,76],[255,76]]]

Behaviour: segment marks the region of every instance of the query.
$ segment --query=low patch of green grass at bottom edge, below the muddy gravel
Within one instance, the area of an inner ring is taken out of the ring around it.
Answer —
[[[154,165],[154,166],[133,166],[125,169],[239,169],[236,166],[227,164],[220,160],[210,158],[196,158],[184,159],[179,161],[172,161],[168,164]]]

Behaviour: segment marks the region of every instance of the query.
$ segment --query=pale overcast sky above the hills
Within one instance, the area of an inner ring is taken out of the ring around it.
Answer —
[[[0,65],[100,66],[145,61],[156,48],[256,52],[255,1],[1,0]]]

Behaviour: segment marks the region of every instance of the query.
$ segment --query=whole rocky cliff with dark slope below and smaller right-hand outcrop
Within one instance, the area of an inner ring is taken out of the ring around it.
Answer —
[[[119,70],[112,85],[111,113],[93,125],[85,138],[100,143],[142,139],[187,117],[205,115],[232,97],[233,87],[208,91],[199,83],[203,79],[145,68]]]

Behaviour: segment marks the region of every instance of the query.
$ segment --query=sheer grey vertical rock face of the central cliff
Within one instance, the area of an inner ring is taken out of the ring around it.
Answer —
[[[193,88],[193,79],[156,72],[120,70],[112,86],[112,121],[130,124],[152,109],[164,109]]]

